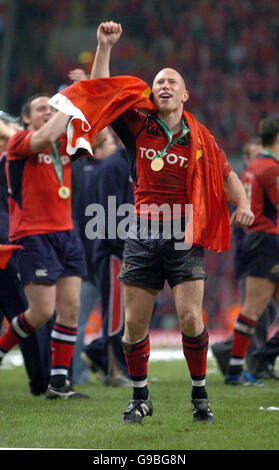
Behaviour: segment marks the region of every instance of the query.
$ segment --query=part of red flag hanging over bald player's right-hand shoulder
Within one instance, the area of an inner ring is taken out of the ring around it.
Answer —
[[[184,111],[183,115],[191,136],[186,191],[193,204],[193,243],[216,252],[228,250],[229,212],[219,150],[209,130],[193,114]],[[202,157],[198,160],[200,148]]]

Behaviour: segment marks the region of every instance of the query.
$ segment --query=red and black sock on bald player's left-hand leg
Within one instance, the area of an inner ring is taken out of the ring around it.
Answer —
[[[133,398],[135,400],[147,400],[147,364],[150,354],[149,336],[147,335],[146,338],[134,344],[123,343],[123,350],[132,381]]]

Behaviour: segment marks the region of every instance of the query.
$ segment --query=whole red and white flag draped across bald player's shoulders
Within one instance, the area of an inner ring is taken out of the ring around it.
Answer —
[[[92,154],[97,133],[127,109],[156,111],[150,93],[144,81],[131,76],[82,80],[57,93],[49,103],[71,116],[68,153],[85,148]],[[188,203],[193,204],[193,243],[216,252],[227,250],[229,214],[219,151],[209,130],[191,113],[184,111],[183,115],[191,136],[186,190]],[[200,148],[202,158],[198,161]]]

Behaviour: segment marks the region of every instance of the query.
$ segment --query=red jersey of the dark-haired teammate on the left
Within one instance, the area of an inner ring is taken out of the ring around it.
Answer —
[[[73,228],[71,198],[58,196],[60,183],[48,150],[31,153],[32,132],[17,132],[8,143],[6,175],[9,186],[11,241],[27,235]],[[66,134],[59,139],[63,185],[71,188],[71,162]]]

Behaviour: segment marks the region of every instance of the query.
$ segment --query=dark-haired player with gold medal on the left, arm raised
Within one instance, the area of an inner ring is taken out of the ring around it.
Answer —
[[[71,218],[71,167],[63,136],[68,117],[55,112],[48,100],[46,94],[27,100],[21,115],[25,130],[9,140],[7,149],[10,240],[24,247],[16,264],[28,309],[0,338],[0,359],[56,311],[46,397],[84,398],[67,381],[86,274]]]

